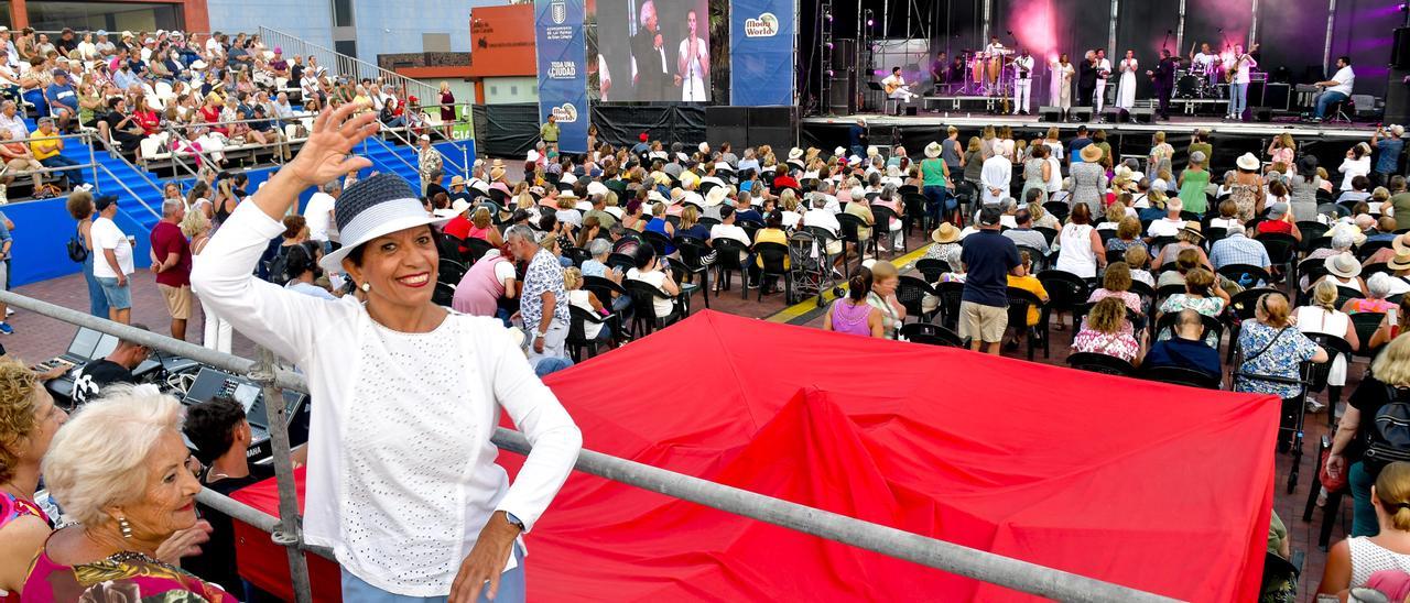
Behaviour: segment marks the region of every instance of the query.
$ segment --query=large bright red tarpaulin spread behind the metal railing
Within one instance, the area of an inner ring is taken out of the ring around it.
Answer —
[[[547,382],[589,449],[1179,599],[1256,597],[1270,396],[711,311]],[[272,511],[274,482],[237,497]],[[1021,599],[585,473],[527,544],[544,602]]]

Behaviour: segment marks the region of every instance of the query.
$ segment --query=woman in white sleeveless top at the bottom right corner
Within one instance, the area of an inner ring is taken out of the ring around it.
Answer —
[[[1345,597],[1352,588],[1369,586],[1373,572],[1410,569],[1410,462],[1397,461],[1380,469],[1368,497],[1379,533],[1332,545],[1318,595]]]

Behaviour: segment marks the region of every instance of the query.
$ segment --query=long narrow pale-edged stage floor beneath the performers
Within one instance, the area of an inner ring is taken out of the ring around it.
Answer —
[[[1073,123],[1073,121],[1043,121],[1038,116],[994,116],[988,113],[956,113],[956,111],[939,111],[939,113],[921,113],[919,116],[884,116],[878,113],[859,113],[854,116],[838,116],[838,117],[804,117],[802,127],[809,125],[821,127],[838,127],[850,125],[859,118],[864,118],[867,125],[876,127],[900,127],[900,128],[945,128],[955,125],[962,130],[983,128],[984,125],[994,127],[1012,127],[1014,130],[1032,131],[1042,130],[1050,125],[1056,125],[1059,130],[1070,131],[1077,130],[1077,125],[1087,125],[1087,130],[1105,130],[1108,134],[1151,134],[1156,131],[1165,131],[1167,134],[1173,132],[1194,132],[1196,130],[1207,130],[1214,135],[1225,137],[1270,137],[1282,132],[1293,132],[1293,137],[1301,138],[1323,138],[1323,139],[1371,139],[1375,134],[1376,127],[1373,124],[1344,124],[1344,123],[1323,123],[1323,124],[1307,124],[1294,117],[1273,117],[1273,121],[1266,123],[1241,123],[1241,121],[1224,121],[1218,117],[1203,117],[1203,116],[1173,116],[1167,121],[1160,121],[1155,124],[1107,124],[1100,121],[1087,123]]]

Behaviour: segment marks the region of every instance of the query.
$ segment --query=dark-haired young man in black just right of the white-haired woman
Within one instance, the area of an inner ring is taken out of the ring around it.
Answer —
[[[254,465],[247,459],[254,438],[244,407],[230,397],[195,404],[186,409],[186,438],[196,448],[196,459],[206,466],[202,485],[217,493],[230,493],[274,478],[274,465]],[[300,454],[305,449],[300,448]],[[217,585],[230,586],[252,600],[252,585],[245,583],[235,568],[235,534],[230,517],[203,503],[196,503],[202,517],[210,521],[210,541],[200,555],[182,561],[186,569]]]

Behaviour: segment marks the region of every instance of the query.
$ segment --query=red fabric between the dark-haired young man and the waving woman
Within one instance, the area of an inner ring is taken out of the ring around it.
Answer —
[[[293,483],[299,495],[299,511],[303,511],[303,469],[293,471]],[[241,503],[279,517],[279,486],[274,479],[245,486],[230,495]],[[252,585],[279,596],[286,602],[293,600],[293,588],[289,586],[289,555],[283,547],[274,544],[269,534],[244,523],[231,521],[235,526],[235,564],[240,566],[240,578]],[[303,554],[309,564],[309,580],[313,585],[313,600],[327,603],[343,602],[343,575],[338,564],[314,554]]]

